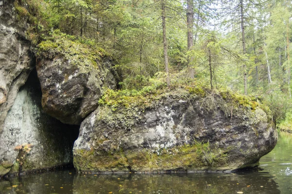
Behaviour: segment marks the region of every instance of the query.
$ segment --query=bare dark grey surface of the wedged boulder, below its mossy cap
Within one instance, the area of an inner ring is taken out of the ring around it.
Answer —
[[[109,61],[98,67],[75,65],[61,55],[38,60],[44,111],[63,123],[79,125],[98,107],[105,88],[116,88],[110,66]]]

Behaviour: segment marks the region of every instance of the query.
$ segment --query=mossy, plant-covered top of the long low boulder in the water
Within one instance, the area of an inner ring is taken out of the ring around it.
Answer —
[[[228,89],[210,90],[201,85],[168,88],[164,82],[157,80],[151,80],[151,82],[152,85],[141,90],[108,89],[99,100],[101,118],[110,123],[121,122],[125,119],[127,123],[127,120],[139,117],[137,114],[167,103],[170,98],[177,98],[188,101],[197,100],[201,108],[207,112],[213,112],[219,108],[230,119],[235,116],[242,117],[247,113],[256,113],[256,110],[261,109],[267,114],[268,121],[272,120],[269,107],[261,104],[256,97],[240,95]],[[111,117],[111,113],[115,113],[116,116]]]

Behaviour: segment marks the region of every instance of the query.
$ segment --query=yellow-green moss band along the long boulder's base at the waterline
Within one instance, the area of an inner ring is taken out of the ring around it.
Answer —
[[[92,150],[76,150],[74,166],[83,172],[117,171],[188,171],[215,169],[224,166],[227,154],[224,150],[211,147],[209,143],[175,146],[161,150],[161,153],[148,149],[111,153],[97,153]]]

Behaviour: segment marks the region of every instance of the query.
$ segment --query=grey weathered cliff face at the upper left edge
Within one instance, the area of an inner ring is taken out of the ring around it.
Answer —
[[[19,25],[16,17],[13,1],[0,0],[0,134],[18,89],[35,64],[24,35],[27,26]]]

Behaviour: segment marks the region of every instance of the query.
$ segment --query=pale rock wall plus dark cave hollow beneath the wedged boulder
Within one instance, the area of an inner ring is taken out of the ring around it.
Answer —
[[[0,176],[47,169],[73,161],[78,126],[68,126],[41,108],[41,91],[34,72],[19,90],[0,136]]]

